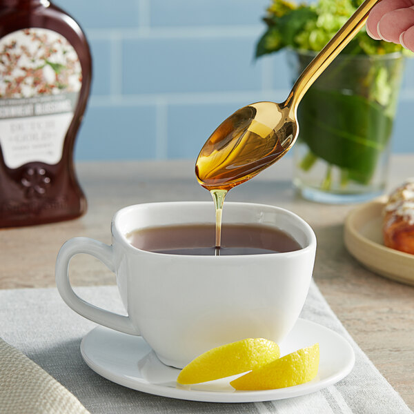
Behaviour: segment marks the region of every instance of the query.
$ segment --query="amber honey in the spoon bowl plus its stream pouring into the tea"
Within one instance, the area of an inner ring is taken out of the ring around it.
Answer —
[[[273,124],[273,113],[262,116],[262,122],[255,119],[256,113],[257,108],[253,105],[238,110],[226,119],[201,148],[195,165],[199,184],[210,191],[215,204],[217,256],[220,253],[221,219],[226,194],[279,159],[293,137],[289,126],[278,133],[268,126]],[[281,143],[282,137],[284,141]]]

